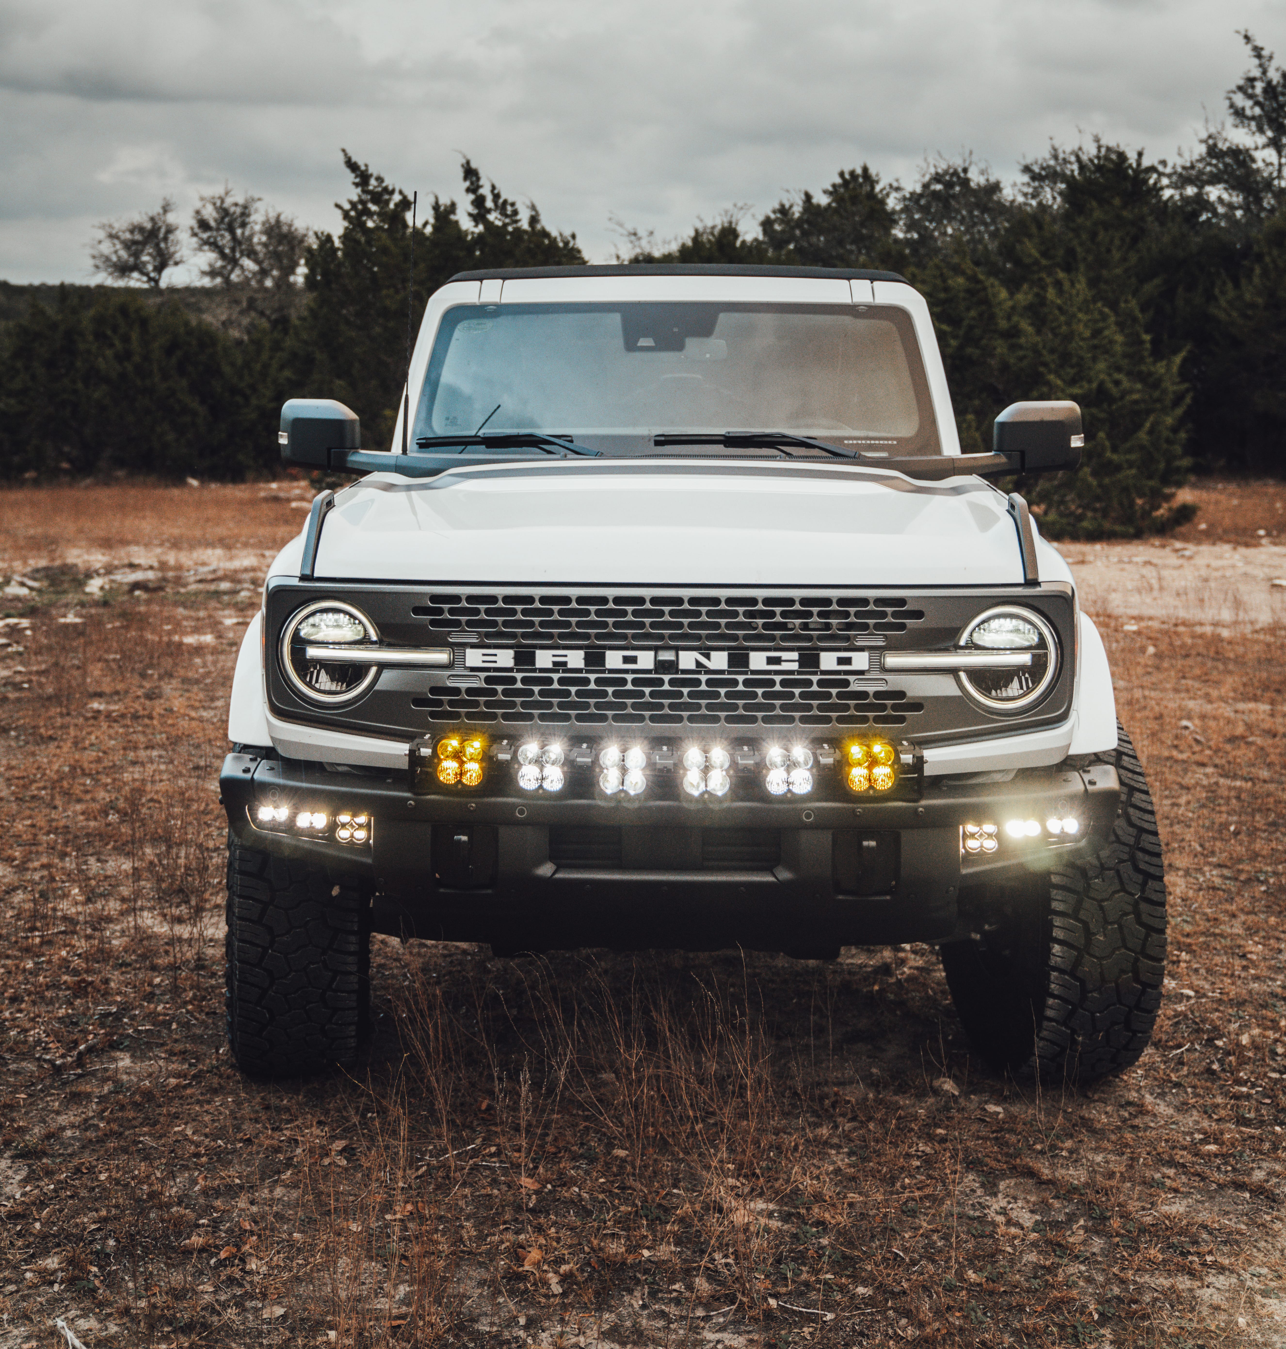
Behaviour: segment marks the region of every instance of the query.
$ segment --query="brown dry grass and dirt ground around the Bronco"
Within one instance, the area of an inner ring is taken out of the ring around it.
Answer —
[[[360,1071],[242,1079],[215,778],[309,495],[0,492],[0,1349],[1286,1344],[1281,487],[1063,546],[1171,915],[1080,1094],[982,1068],[919,947],[376,938]]]

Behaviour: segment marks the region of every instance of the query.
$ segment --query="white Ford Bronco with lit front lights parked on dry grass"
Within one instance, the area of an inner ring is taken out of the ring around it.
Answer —
[[[1161,1001],[1152,803],[1026,502],[1074,403],[962,455],[889,272],[464,272],[394,444],[282,409],[321,492],[242,645],[221,773],[240,1067],[358,1055],[370,938],[936,946],[1001,1070],[1134,1063]]]

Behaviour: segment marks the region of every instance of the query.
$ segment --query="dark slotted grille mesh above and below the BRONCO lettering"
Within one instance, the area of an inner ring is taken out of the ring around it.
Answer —
[[[897,596],[439,594],[412,612],[436,635],[495,646],[878,652],[924,614]],[[463,656],[456,665],[463,664]],[[905,726],[923,710],[880,677],[816,670],[487,670],[416,697],[435,723],[509,726]]]

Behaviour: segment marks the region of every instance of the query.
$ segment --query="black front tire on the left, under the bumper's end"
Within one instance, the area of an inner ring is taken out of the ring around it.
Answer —
[[[228,839],[228,1045],[243,1072],[351,1064],[370,1005],[368,896]]]

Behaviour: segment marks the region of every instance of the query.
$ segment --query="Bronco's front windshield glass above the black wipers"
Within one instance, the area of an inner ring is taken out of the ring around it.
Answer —
[[[942,452],[911,318],[881,305],[460,305],[433,343],[412,437],[479,430],[606,453],[761,430]]]

